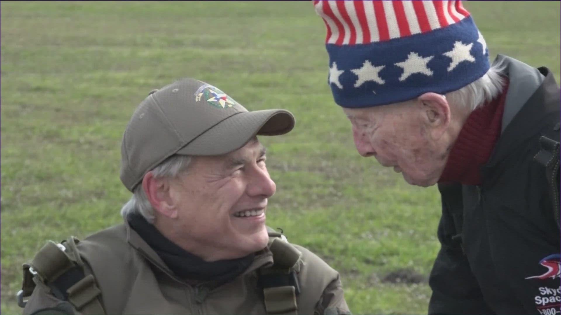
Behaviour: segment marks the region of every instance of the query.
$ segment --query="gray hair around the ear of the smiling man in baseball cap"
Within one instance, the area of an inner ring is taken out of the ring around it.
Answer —
[[[191,157],[186,155],[172,155],[153,170],[152,175],[155,179],[174,179],[187,171],[187,166],[191,163]],[[140,214],[146,221],[154,223],[154,207],[151,205],[140,183],[134,189],[131,199],[121,208],[121,215],[126,219],[130,214]]]

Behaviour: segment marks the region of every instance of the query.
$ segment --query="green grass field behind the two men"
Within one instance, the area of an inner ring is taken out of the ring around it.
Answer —
[[[493,58],[547,66],[559,82],[559,4],[465,6]],[[278,188],[268,225],[341,272],[353,313],[426,313],[438,192],[356,153],[311,1],[2,1],[0,11],[2,314],[21,313],[21,264],[45,240],[121,221],[122,132],[150,90],[181,77],[249,109],[291,110],[293,132],[261,138]]]

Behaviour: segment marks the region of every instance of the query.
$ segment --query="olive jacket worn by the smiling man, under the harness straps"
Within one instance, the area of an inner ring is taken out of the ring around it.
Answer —
[[[338,272],[307,249],[293,247],[301,252],[295,268],[301,290],[297,313],[350,314]],[[222,285],[178,279],[126,222],[78,242],[76,249],[95,277],[99,303],[107,314],[266,314],[257,272],[273,265],[269,246],[242,275]],[[81,313],[35,282],[24,314],[48,308]]]

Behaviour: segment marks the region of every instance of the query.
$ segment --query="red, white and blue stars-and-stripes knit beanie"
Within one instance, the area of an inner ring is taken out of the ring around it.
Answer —
[[[364,108],[445,94],[489,70],[461,1],[314,1],[325,22],[335,103]]]

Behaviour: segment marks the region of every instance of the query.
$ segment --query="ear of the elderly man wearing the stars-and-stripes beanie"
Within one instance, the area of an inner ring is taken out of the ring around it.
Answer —
[[[429,127],[431,138],[433,140],[440,139],[450,124],[448,101],[443,95],[433,92],[425,93],[419,96],[417,100],[422,106],[422,115],[427,127]]]

